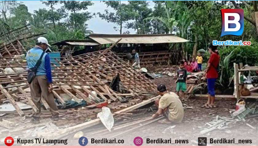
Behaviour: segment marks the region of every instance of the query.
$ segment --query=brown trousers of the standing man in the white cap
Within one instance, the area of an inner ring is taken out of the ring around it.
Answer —
[[[52,92],[49,93],[49,90],[48,90],[49,85],[48,85],[47,77],[45,75],[35,76],[33,81],[30,83],[29,87],[30,87],[30,94],[31,94],[32,101],[39,109],[38,112],[35,112],[34,110],[32,110],[32,114],[34,117],[40,117],[41,115],[41,102],[40,102],[41,93],[50,107],[50,112],[52,113],[52,116],[55,117],[59,115],[57,105],[55,104],[55,101],[54,101],[54,95]]]

